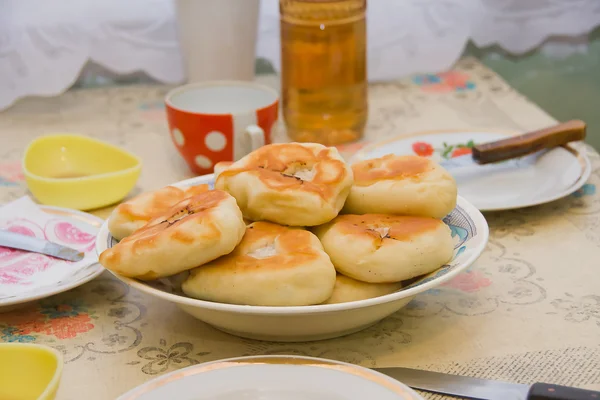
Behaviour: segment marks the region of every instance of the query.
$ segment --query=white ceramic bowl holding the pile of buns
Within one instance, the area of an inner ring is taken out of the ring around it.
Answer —
[[[186,187],[207,183],[212,187],[213,181],[213,175],[205,175],[174,185]],[[181,275],[177,279],[151,282],[115,276],[144,293],[177,304],[185,312],[217,329],[237,336],[279,342],[329,339],[375,324],[404,307],[416,294],[441,285],[473,264],[488,241],[488,225],[483,215],[459,197],[457,207],[444,218],[444,222],[450,226],[455,240],[452,261],[395,293],[367,300],[296,307],[244,306],[187,297],[179,288]],[[100,254],[116,243],[104,223],[98,233],[96,251]]]

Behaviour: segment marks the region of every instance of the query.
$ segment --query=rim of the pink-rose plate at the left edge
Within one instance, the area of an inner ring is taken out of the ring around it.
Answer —
[[[104,223],[102,218],[83,211],[47,205],[39,205],[39,207],[46,213],[76,219],[97,228]],[[4,298],[0,297],[0,314],[27,305],[32,301],[41,300],[74,289],[96,278],[102,272],[104,272],[104,267],[97,261],[85,263],[81,264],[77,269],[73,270],[69,275],[63,277],[59,281],[48,282],[47,285],[37,287],[35,291],[24,290],[19,294]]]

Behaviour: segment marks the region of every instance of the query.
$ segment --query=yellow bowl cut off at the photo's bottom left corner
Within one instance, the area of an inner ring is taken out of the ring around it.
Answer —
[[[62,366],[62,355],[50,347],[0,343],[0,399],[54,399]]]

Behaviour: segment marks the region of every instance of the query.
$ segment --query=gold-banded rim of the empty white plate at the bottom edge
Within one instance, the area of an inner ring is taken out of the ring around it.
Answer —
[[[326,371],[334,370],[336,373],[343,373],[352,377],[358,377],[361,380],[369,381],[379,387],[385,388],[390,391],[395,398],[397,396],[398,400],[423,400],[423,397],[421,397],[417,392],[404,383],[370,368],[361,367],[359,365],[350,364],[343,361],[297,355],[244,356],[196,364],[165,375],[161,375],[148,382],[145,382],[122,394],[117,398],[117,400],[139,399],[140,396],[152,393],[154,390],[165,385],[206,372],[215,370],[231,370],[239,367],[252,367],[260,365],[306,366],[311,368],[321,368]],[[300,378],[300,380],[301,379],[302,378]],[[228,386],[228,389],[230,388],[231,387]]]

